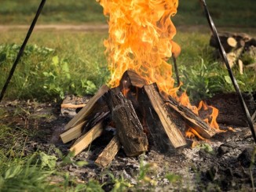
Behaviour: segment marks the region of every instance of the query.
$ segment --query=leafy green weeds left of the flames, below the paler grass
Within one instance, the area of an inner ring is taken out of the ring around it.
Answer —
[[[8,74],[18,49],[20,47],[16,44],[5,44],[0,47],[2,58],[0,70],[5,74]],[[90,67],[88,61],[79,60],[79,66],[73,67],[73,62],[72,59],[57,56],[54,49],[28,45],[20,67],[13,76],[13,82],[9,85],[12,88],[7,92],[7,96],[15,95],[20,99],[58,100],[63,99],[67,92],[78,95],[93,94],[108,78],[107,67],[101,67],[101,63],[94,63]],[[82,65],[86,67],[82,68]],[[93,73],[90,73],[92,70]],[[1,78],[2,86],[7,77],[4,75]]]

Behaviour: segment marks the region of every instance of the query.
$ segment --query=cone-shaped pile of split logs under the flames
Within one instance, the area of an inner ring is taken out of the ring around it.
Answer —
[[[147,85],[133,71],[123,74],[119,87],[103,85],[68,122],[60,138],[63,143],[73,142],[70,150],[76,155],[103,136],[110,124],[116,134],[95,161],[101,167],[107,166],[121,148],[128,157],[134,157],[151,147],[162,153],[185,147],[187,126],[206,139],[216,133],[192,110],[159,92],[155,83]]]

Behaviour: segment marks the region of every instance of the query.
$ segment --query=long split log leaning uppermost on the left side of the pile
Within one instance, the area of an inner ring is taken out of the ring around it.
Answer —
[[[101,97],[104,95],[105,92],[108,92],[109,88],[107,85],[103,85],[101,89],[97,91],[97,93],[89,100],[85,107],[79,111],[78,114],[75,115],[71,121],[65,126],[65,130],[74,127],[75,125],[79,124],[80,121],[84,121],[85,118],[90,115],[95,107],[97,107],[97,103],[101,103]]]

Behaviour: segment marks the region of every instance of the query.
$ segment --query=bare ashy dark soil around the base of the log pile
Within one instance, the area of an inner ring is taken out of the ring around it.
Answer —
[[[78,99],[74,96],[70,98],[69,100],[75,100],[76,104],[86,103],[89,99],[88,97]],[[60,133],[64,132],[64,125],[77,111],[60,110],[60,103],[17,100],[1,103],[0,110],[5,111],[2,123],[12,127],[13,134],[31,132],[21,135],[16,141],[17,146],[24,146],[25,141],[24,155],[38,150],[57,155],[55,147],[63,154],[68,154],[72,143],[63,144]],[[227,128],[224,125],[221,127]],[[198,141],[196,147],[185,147],[169,154],[161,154],[151,149],[137,158],[127,158],[123,150],[119,150],[111,165],[107,168],[99,168],[94,165],[94,161],[114,133],[112,129],[108,130],[110,131],[104,136],[93,141],[90,149],[82,151],[75,157],[75,160],[87,161],[88,165],[78,167],[71,164],[61,168],[82,183],[89,179],[97,179],[100,183],[105,183],[103,188],[106,191],[113,187],[108,172],[117,178],[123,176],[140,190],[248,191],[252,190],[252,183],[256,184],[256,179],[253,179],[256,176],[254,157],[252,157],[255,154],[254,140],[250,129],[246,127],[236,127],[233,131],[221,132],[210,140]],[[1,140],[0,146],[9,147]],[[58,162],[60,164],[61,160],[59,159]],[[150,165],[148,177],[151,184],[142,185],[143,182],[138,179],[141,165]]]

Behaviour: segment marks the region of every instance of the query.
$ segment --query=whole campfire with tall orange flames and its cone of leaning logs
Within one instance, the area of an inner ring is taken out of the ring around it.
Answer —
[[[203,102],[192,106],[185,92],[177,93],[180,85],[174,87],[167,60],[181,52],[173,41],[176,28],[170,20],[177,13],[177,0],[100,3],[109,18],[104,45],[111,81],[65,126],[62,141],[76,139],[70,150],[79,154],[111,125],[116,134],[95,161],[104,167],[121,147],[127,156],[151,148],[170,153],[187,146],[188,139],[210,139],[223,132],[216,108]],[[199,118],[201,111],[204,119]]]

